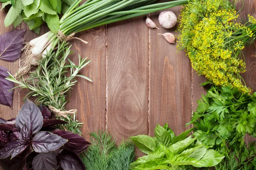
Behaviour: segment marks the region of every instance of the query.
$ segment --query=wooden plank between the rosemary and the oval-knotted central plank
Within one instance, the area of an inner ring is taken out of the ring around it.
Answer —
[[[91,59],[80,74],[89,77],[93,82],[77,78],[78,82],[71,90],[66,109],[78,110],[77,119],[84,123],[81,131],[89,139],[88,133],[105,130],[106,27],[83,31],[76,36],[86,40],[88,44],[74,40],[72,50],[75,52],[70,55],[70,59],[78,64],[78,53],[81,57]]]

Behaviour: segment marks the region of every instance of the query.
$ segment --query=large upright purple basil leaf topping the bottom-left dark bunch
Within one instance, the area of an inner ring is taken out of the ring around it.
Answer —
[[[29,99],[26,100],[16,118],[16,126],[19,130],[22,129],[24,123],[29,129],[30,135],[37,133],[43,126],[41,111]]]

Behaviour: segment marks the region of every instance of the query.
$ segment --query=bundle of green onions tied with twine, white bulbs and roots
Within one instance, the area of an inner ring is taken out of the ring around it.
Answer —
[[[188,0],[164,3],[155,3],[157,0],[87,0],[79,6],[81,1],[76,0],[66,11],[59,29],[49,31],[26,45],[26,59],[17,73],[19,76],[26,74],[31,65],[36,65],[36,61],[60,41],[70,40],[77,32],[188,3]]]

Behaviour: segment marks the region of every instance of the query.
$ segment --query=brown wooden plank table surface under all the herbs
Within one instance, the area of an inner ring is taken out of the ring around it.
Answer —
[[[178,16],[180,9],[175,7],[172,11]],[[256,17],[255,11],[256,0],[244,0],[241,15],[253,14]],[[0,11],[0,34],[12,30],[12,26],[4,26],[6,13],[6,10]],[[158,14],[150,16],[157,22]],[[78,110],[77,118],[84,122],[81,130],[87,139],[93,130],[104,129],[108,129],[117,142],[138,134],[153,136],[155,126],[166,122],[176,135],[190,128],[185,124],[190,121],[192,111],[196,110],[196,101],[205,93],[199,84],[206,79],[192,70],[183,51],[177,53],[176,45],[169,44],[158,35],[165,32],[177,34],[176,27],[149,29],[145,18],[137,17],[76,34],[89,42],[87,45],[78,40],[71,42],[75,53],[70,58],[75,63],[78,53],[92,60],[81,74],[93,82],[78,78],[66,106],[66,109]],[[27,28],[26,41],[38,37],[24,23],[17,27],[23,28]],[[47,26],[41,28],[41,34],[47,31]],[[247,72],[243,74],[245,82],[254,91],[255,51],[255,44],[244,49]],[[21,59],[16,62],[0,61],[0,65],[14,73]],[[27,92],[16,89],[13,108],[0,105],[0,117],[16,117]]]

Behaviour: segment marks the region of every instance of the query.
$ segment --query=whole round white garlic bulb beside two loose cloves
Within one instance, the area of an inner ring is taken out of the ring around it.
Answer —
[[[158,17],[159,23],[164,28],[172,28],[177,23],[177,17],[172,11],[163,11]]]

